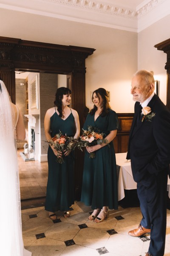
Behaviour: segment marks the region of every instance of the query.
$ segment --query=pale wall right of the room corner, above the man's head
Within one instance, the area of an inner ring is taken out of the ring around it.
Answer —
[[[160,81],[159,97],[164,104],[167,93],[167,72],[164,69],[167,54],[157,50],[154,45],[170,38],[168,24],[170,24],[170,15],[138,34],[138,69],[153,70],[155,80]]]

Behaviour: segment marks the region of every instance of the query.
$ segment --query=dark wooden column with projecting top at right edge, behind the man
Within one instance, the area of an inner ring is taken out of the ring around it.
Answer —
[[[167,70],[167,108],[170,109],[170,39],[156,44],[154,47],[167,53],[167,62],[165,65],[165,69]]]

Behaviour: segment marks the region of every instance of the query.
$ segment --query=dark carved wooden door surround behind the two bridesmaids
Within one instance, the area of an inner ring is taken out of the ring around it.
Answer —
[[[77,110],[82,127],[86,109],[85,59],[94,51],[93,48],[0,37],[0,77],[15,103],[15,71],[68,74],[68,87],[72,90],[71,106]],[[75,199],[78,200],[82,184],[83,154],[80,151],[75,153]]]

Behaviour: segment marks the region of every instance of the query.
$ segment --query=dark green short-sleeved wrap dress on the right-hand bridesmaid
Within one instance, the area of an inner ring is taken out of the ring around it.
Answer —
[[[88,130],[89,125],[98,128],[105,136],[119,127],[113,110],[109,110],[107,116],[99,116],[96,121],[94,115],[88,114],[83,129]],[[92,209],[102,209],[103,206],[118,209],[116,157],[112,141],[110,146],[94,151],[96,157],[93,159],[85,151],[81,201],[91,205]]]

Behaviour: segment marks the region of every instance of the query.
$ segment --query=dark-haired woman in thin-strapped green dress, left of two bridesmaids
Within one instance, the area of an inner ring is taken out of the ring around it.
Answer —
[[[71,90],[66,87],[57,89],[54,108],[45,114],[44,128],[47,140],[51,140],[59,131],[69,137],[79,138],[79,116],[77,111],[69,108]],[[52,220],[57,219],[56,211],[64,211],[64,217],[70,216],[69,208],[74,204],[74,152],[65,151],[64,163],[57,163],[56,156],[62,152],[48,147],[48,183],[45,210]]]

